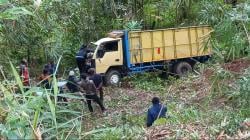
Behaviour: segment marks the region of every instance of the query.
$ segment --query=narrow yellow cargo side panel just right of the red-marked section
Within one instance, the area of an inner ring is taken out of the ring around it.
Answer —
[[[174,45],[174,30],[164,31],[165,41],[165,59],[171,60],[175,58],[175,45]]]

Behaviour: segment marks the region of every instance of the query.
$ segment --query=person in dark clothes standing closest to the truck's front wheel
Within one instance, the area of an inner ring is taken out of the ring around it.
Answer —
[[[99,91],[100,94],[100,100],[103,102],[103,80],[102,80],[102,76],[100,74],[96,74],[96,71],[94,68],[90,68],[88,70],[88,73],[90,75],[90,80],[93,80],[96,89]]]

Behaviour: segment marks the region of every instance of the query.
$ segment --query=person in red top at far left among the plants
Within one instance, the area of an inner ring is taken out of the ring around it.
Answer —
[[[19,75],[22,78],[23,85],[24,86],[29,86],[30,85],[30,82],[29,82],[29,70],[28,70],[28,62],[27,62],[26,59],[21,60]]]

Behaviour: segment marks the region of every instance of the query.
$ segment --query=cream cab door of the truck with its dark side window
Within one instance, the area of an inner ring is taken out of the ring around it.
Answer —
[[[123,64],[121,40],[100,44],[95,61],[97,73],[106,73],[111,66],[121,66]]]

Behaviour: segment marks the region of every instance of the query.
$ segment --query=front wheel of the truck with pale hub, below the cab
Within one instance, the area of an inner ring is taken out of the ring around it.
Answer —
[[[106,84],[109,85],[118,85],[121,81],[121,74],[117,70],[110,70],[105,76]]]

